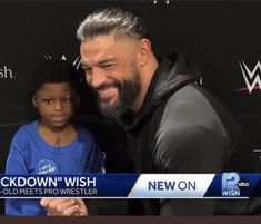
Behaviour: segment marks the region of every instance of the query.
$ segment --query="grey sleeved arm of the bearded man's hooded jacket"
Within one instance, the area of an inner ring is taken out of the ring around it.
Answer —
[[[231,142],[213,107],[191,87],[173,95],[154,137],[153,162],[159,173],[220,173],[229,163]],[[213,199],[162,199],[163,215],[212,215]]]

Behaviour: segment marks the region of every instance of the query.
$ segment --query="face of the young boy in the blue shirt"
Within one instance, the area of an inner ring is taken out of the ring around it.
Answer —
[[[74,91],[68,82],[44,84],[32,98],[41,116],[41,123],[49,128],[64,127],[73,115]]]

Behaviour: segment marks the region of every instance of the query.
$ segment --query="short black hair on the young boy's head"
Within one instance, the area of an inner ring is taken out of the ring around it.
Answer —
[[[66,60],[44,60],[36,67],[31,94],[34,95],[44,84],[59,82],[69,82],[78,90],[79,79],[76,68],[70,62]]]

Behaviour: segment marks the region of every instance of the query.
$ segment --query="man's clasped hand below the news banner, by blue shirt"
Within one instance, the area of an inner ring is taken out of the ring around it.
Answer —
[[[86,204],[80,198],[42,198],[41,206],[47,210],[49,216],[86,216],[88,211]]]

